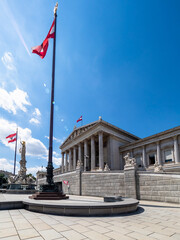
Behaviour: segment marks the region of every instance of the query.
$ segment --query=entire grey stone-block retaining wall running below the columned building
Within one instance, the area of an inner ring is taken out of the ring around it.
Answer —
[[[69,188],[63,183],[69,181]],[[180,174],[136,172],[128,169],[118,172],[73,171],[54,176],[62,182],[63,192],[87,196],[123,196],[139,200],[180,203]],[[39,183],[45,183],[45,178]]]

